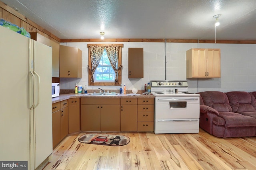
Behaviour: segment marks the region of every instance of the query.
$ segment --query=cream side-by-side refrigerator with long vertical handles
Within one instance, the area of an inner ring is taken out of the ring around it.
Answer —
[[[0,26],[0,160],[42,169],[52,154],[52,49]]]

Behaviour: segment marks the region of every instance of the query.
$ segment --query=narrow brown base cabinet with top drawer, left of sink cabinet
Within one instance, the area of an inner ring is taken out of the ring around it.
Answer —
[[[68,133],[80,131],[80,98],[68,99]]]

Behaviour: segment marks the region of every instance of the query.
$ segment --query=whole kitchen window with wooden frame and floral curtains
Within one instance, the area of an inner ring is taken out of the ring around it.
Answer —
[[[87,44],[88,85],[120,86],[123,44]]]

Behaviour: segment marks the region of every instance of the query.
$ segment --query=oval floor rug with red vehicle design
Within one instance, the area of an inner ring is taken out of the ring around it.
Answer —
[[[116,134],[86,133],[80,136],[78,141],[96,145],[123,146],[130,142],[130,138],[124,135]]]

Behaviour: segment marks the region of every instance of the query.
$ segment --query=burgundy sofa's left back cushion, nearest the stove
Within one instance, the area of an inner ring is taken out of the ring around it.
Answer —
[[[210,106],[219,112],[232,112],[228,97],[225,93],[218,91],[206,91],[199,92],[198,94],[202,97],[204,105]]]

